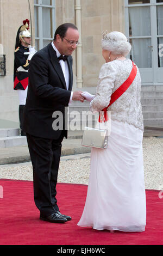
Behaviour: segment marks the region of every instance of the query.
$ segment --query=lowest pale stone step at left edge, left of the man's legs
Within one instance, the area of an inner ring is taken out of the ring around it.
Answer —
[[[10,148],[18,145],[27,145],[26,136],[10,136],[0,138],[0,148]]]

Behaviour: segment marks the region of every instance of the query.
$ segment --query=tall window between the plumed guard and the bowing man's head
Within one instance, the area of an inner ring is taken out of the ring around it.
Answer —
[[[35,47],[40,50],[53,40],[55,0],[34,0]]]

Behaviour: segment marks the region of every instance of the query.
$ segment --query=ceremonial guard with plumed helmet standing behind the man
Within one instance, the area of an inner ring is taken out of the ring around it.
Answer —
[[[23,112],[26,105],[28,90],[28,68],[29,62],[34,55],[35,48],[31,47],[31,36],[29,33],[29,20],[24,20],[23,25],[17,31],[14,58],[14,90],[18,92],[19,98],[19,120],[21,136],[26,136],[22,130]]]

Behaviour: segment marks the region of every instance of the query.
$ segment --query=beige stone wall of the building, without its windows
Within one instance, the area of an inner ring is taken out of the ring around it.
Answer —
[[[123,2],[123,0],[54,1],[54,28],[65,22],[72,22],[80,27],[79,54],[78,50],[73,53],[73,89],[96,87],[98,72],[104,62],[101,55],[101,33],[103,30],[124,32]],[[43,6],[43,4],[52,4],[52,1],[0,0],[0,54],[5,54],[6,58],[6,75],[0,76],[0,127],[18,126],[18,96],[13,90],[15,39],[22,21],[29,19],[32,23],[34,41],[36,26],[34,8],[37,8],[34,4],[38,3],[42,3]],[[31,32],[31,26],[29,31]],[[54,31],[52,33],[54,34]]]

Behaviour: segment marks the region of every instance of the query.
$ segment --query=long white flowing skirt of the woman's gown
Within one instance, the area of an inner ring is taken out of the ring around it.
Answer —
[[[87,197],[78,225],[98,230],[144,231],[143,130],[116,119],[113,114],[108,148],[92,148]]]

